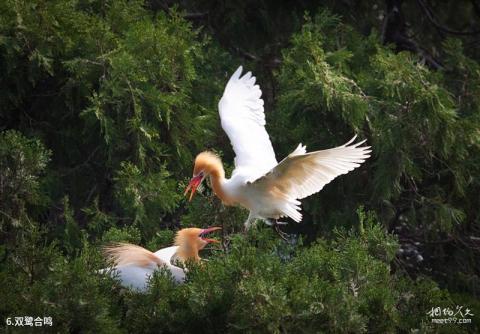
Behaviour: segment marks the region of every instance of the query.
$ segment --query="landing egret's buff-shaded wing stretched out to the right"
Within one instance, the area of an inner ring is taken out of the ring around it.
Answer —
[[[252,185],[286,200],[284,214],[300,221],[298,199],[319,192],[334,178],[357,168],[370,156],[370,146],[360,146],[365,140],[352,144],[355,138],[342,146],[310,153],[300,144]]]

